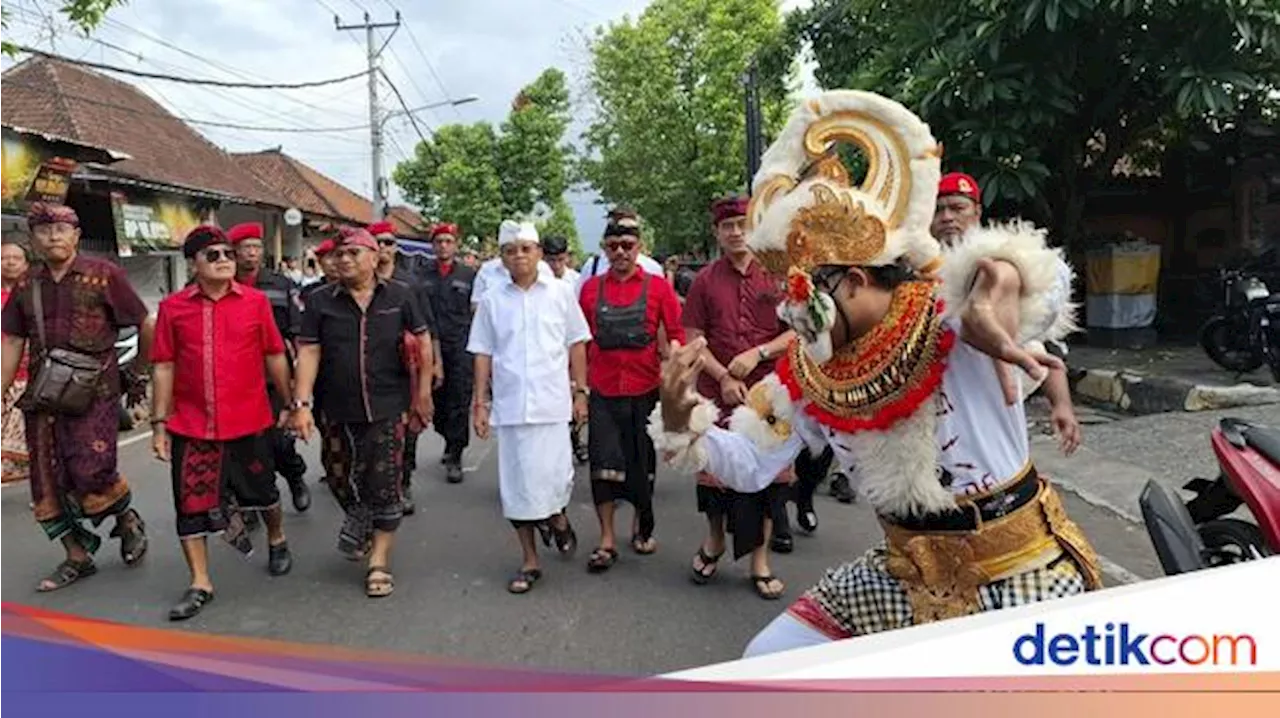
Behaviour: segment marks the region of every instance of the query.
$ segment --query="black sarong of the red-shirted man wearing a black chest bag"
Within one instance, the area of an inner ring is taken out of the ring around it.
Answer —
[[[625,500],[640,518],[639,538],[653,536],[653,477],[657,453],[645,430],[658,392],[640,397],[591,394],[588,452],[595,506]]]

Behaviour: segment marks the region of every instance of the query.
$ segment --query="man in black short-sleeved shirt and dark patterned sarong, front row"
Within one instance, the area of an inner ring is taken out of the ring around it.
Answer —
[[[333,465],[329,488],[347,515],[338,550],[367,557],[365,593],[390,595],[392,539],[404,513],[404,425],[431,416],[431,340],[404,285],[375,274],[378,243],[344,228],[334,248],[339,282],[307,297],[298,334],[293,427],[310,440],[320,415]],[[411,398],[406,334],[417,337],[417,392]]]

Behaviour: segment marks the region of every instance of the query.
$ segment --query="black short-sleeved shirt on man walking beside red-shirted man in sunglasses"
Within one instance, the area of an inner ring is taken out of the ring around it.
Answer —
[[[365,311],[342,284],[307,296],[298,342],[320,344],[316,411],[338,424],[394,419],[410,408],[404,333],[426,320],[408,287],[378,280]]]

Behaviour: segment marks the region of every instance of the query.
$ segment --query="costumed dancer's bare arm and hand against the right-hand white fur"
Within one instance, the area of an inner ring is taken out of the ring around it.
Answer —
[[[978,260],[978,278],[969,294],[969,306],[960,317],[964,340],[991,356],[1005,393],[1005,403],[1019,399],[1018,379],[1007,363],[1018,365],[1032,379],[1042,381],[1048,371],[1066,371],[1062,360],[1042,349],[1028,351],[1018,344],[1018,270],[1006,262]]]

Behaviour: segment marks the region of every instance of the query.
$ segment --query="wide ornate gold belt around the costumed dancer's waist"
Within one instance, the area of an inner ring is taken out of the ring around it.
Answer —
[[[1043,479],[1036,498],[974,531],[910,531],[881,520],[888,545],[886,570],[911,602],[915,623],[982,610],[987,584],[1042,568],[1066,552],[1087,590],[1102,587],[1098,555],[1066,516],[1057,491]]]

